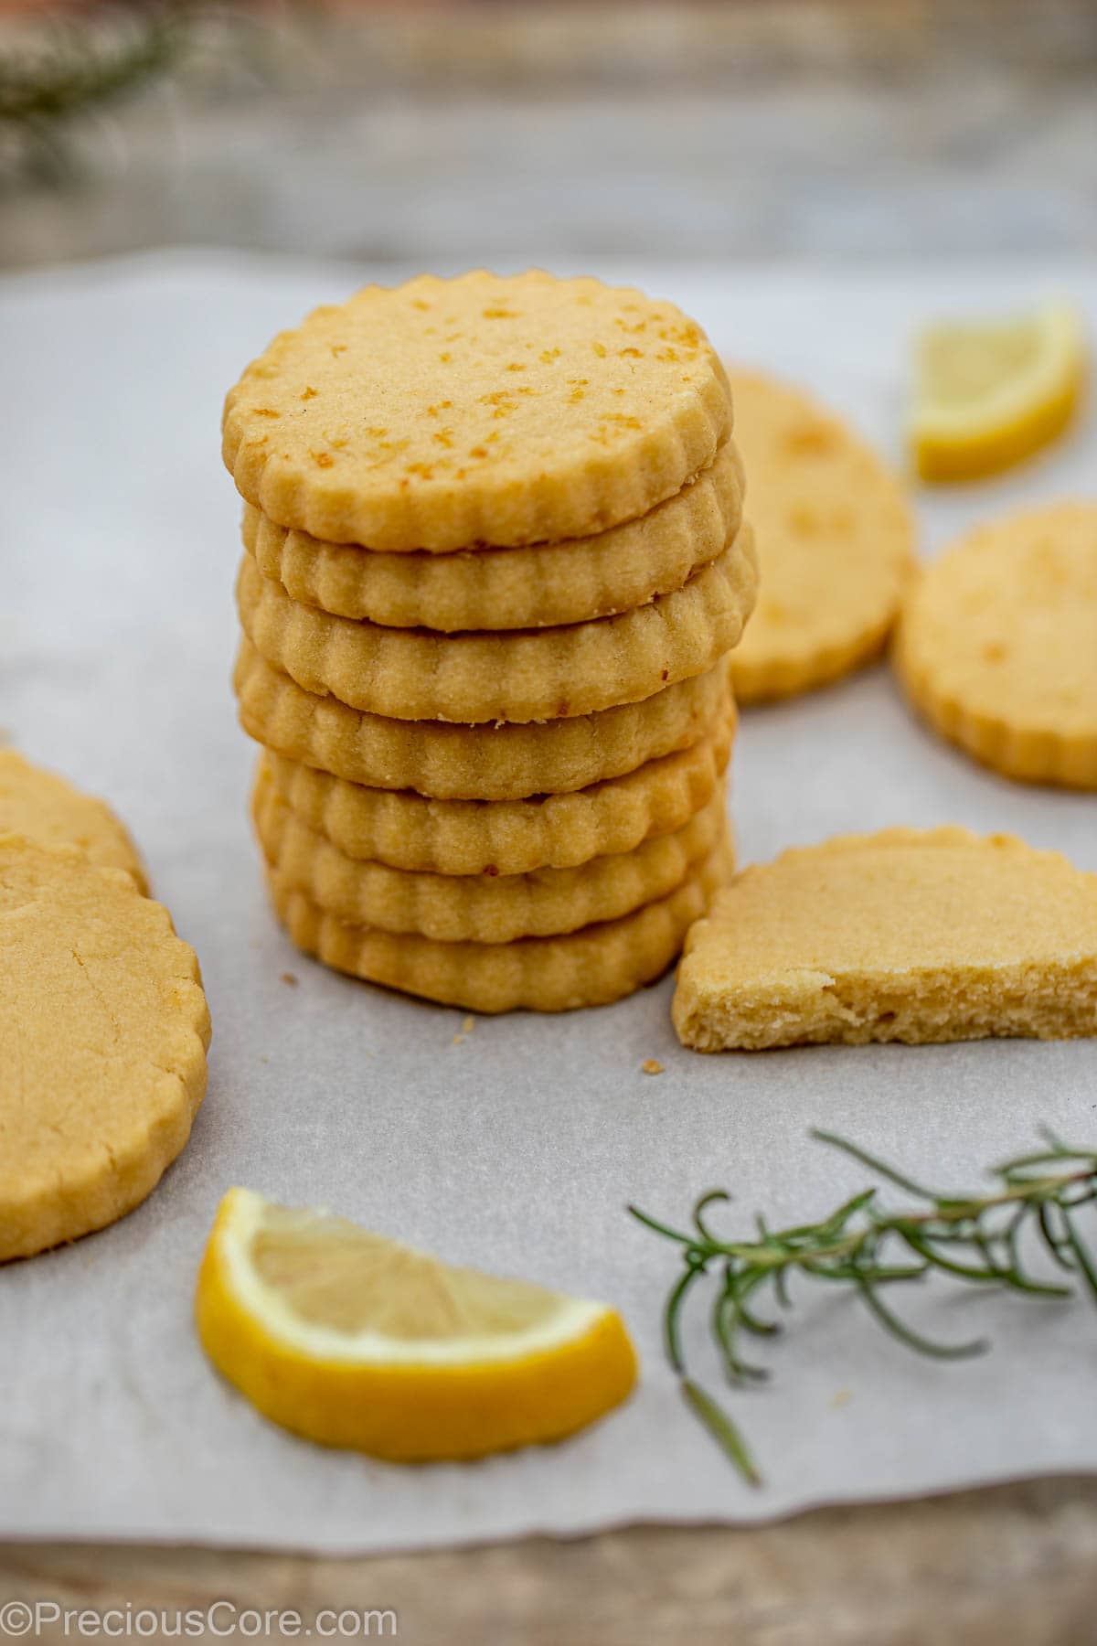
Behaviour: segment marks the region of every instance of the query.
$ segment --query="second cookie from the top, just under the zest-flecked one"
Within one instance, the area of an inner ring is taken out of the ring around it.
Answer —
[[[727,441],[707,469],[638,520],[526,548],[385,555],[324,543],[245,504],[243,546],[304,606],[391,629],[546,629],[669,594],[730,543],[743,469]]]

